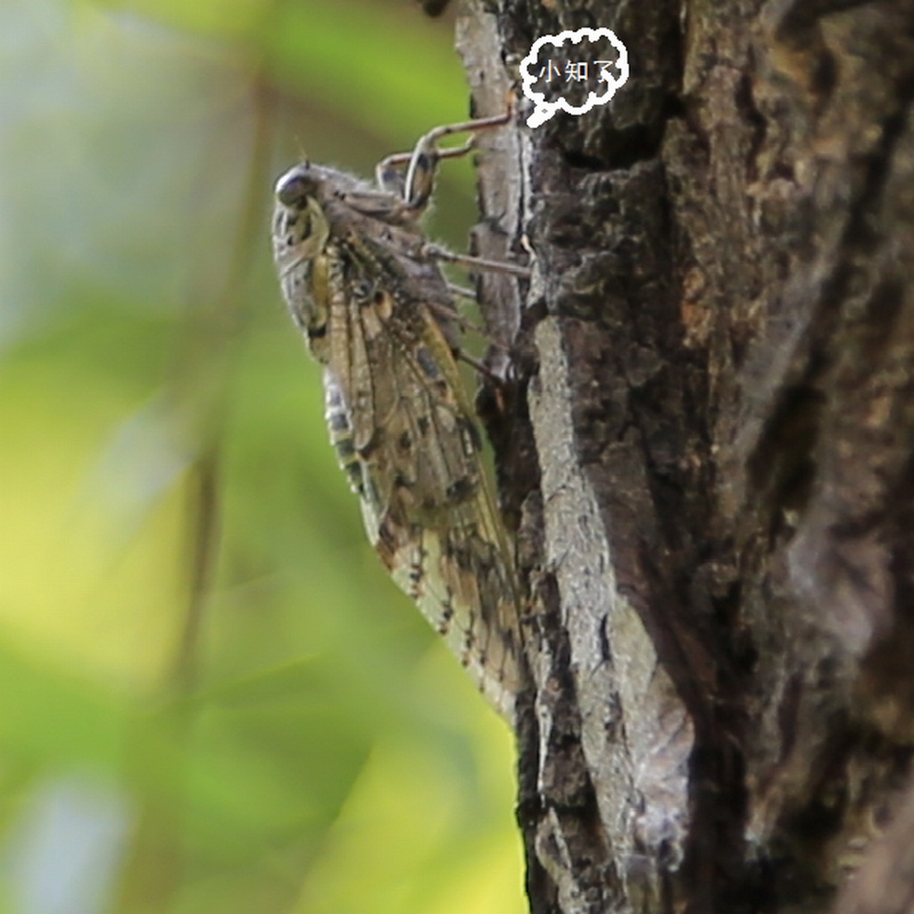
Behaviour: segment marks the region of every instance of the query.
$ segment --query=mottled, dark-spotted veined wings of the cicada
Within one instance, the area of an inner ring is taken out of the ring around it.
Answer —
[[[388,247],[380,256],[396,255]],[[451,345],[418,294],[450,303],[444,280],[428,261],[378,263],[362,236],[330,260],[327,414],[368,536],[511,717],[519,623],[510,547]],[[409,282],[408,270],[421,268],[435,276]]]

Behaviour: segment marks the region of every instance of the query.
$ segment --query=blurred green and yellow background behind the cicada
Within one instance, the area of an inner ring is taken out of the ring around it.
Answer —
[[[511,914],[505,726],[388,581],[271,187],[467,93],[411,0],[3,0],[0,914]],[[431,230],[463,246],[472,172]]]

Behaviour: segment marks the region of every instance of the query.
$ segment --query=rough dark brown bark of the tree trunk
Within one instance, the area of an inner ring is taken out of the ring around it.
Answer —
[[[481,165],[531,909],[910,911],[914,5],[468,0],[475,113],[597,26]]]

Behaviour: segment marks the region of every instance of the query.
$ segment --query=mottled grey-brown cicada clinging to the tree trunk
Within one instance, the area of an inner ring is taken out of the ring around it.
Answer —
[[[273,251],[292,318],[324,367],[331,441],[368,538],[510,719],[521,646],[512,548],[456,361],[443,252],[419,225],[438,161],[473,144],[441,150],[441,137],[506,119],[436,128],[378,165],[375,185],[296,165],[276,184]]]

